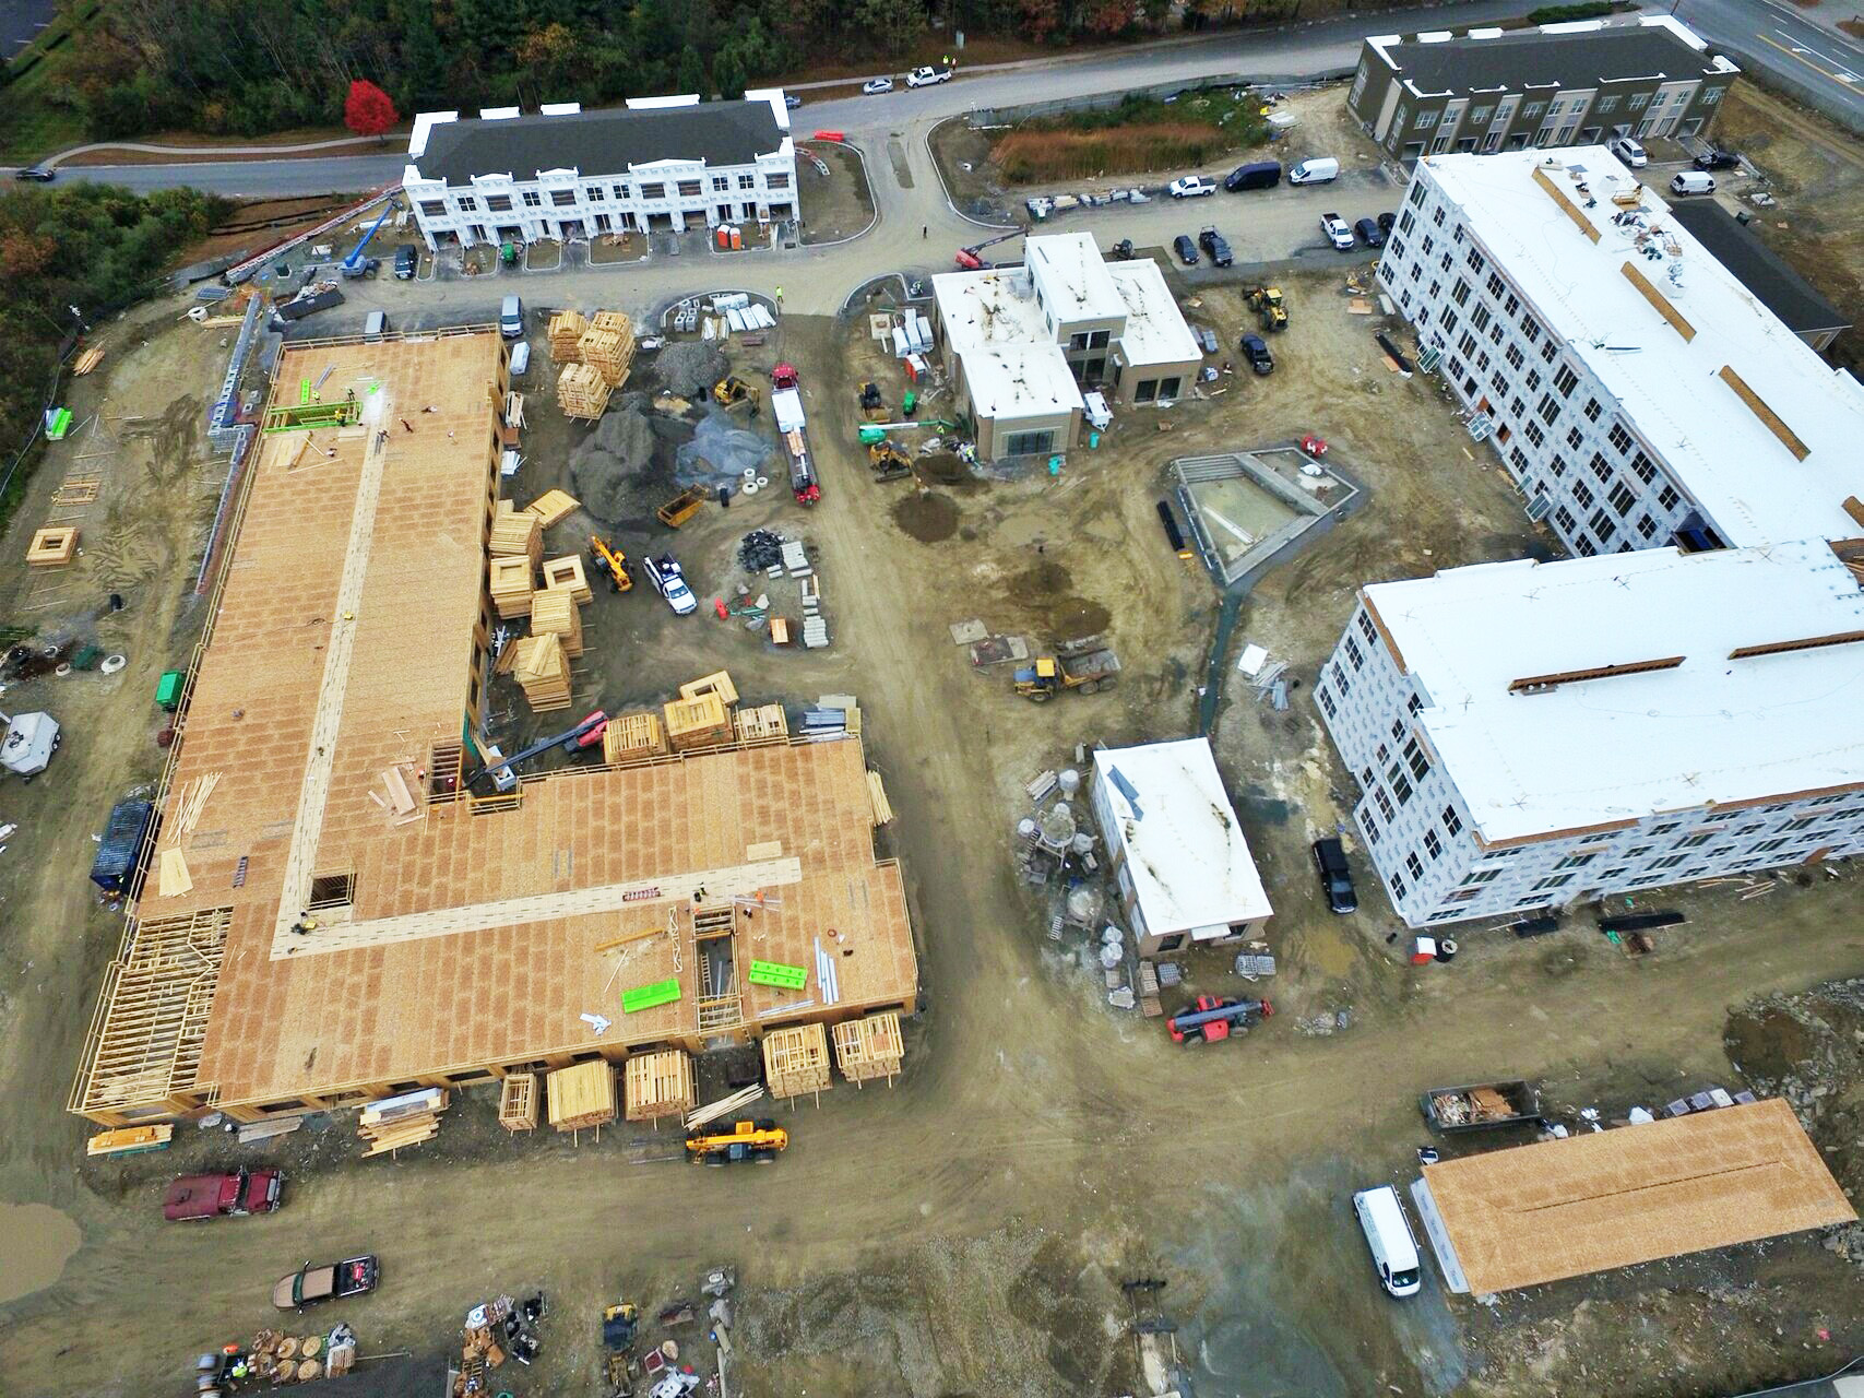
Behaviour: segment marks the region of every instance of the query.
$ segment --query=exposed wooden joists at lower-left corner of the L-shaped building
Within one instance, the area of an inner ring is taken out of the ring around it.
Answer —
[[[130,930],[97,1003],[84,1053],[89,1070],[73,1090],[73,1111],[212,1100],[196,1077],[231,921],[231,908],[203,908]]]

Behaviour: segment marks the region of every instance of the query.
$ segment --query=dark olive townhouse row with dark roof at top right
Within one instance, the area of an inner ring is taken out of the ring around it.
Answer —
[[[1696,136],[1739,69],[1668,15],[1366,39],[1346,104],[1389,155]]]

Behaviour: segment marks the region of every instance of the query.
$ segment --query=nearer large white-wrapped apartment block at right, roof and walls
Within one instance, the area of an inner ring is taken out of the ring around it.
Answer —
[[[1864,852],[1860,585],[1814,539],[1363,587],[1314,697],[1398,915]]]

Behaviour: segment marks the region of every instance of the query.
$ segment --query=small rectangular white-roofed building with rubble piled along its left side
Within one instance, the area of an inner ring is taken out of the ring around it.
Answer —
[[[1141,956],[1262,932],[1275,910],[1206,738],[1096,751],[1089,800]]]

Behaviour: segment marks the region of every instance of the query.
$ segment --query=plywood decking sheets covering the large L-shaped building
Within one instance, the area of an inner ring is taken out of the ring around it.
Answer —
[[[157,844],[177,846],[181,792],[218,772],[186,843],[194,887],[138,910],[162,919],[227,910],[199,1070],[164,1087],[214,1085],[222,1103],[237,1105],[585,1051],[595,1038],[583,1012],[613,1021],[604,1044],[693,1033],[690,919],[680,945],[595,947],[665,926],[665,898],[690,898],[690,876],[759,863],[749,848],[772,841],[785,872],[800,861],[798,872],[772,878],[766,904],[738,913],[740,958],[813,966],[815,939],[826,945],[835,928],[837,949],[852,951],[837,967],[848,1010],[911,999],[904,884],[897,867],[874,863],[857,740],[583,770],[526,783],[513,811],[473,816],[460,802],[404,826],[384,820],[369,800],[380,772],[459,742],[468,708],[496,472],[487,384],[500,378],[500,343],[487,334],[287,349],[281,399],[295,401],[298,384],[326,367],[324,401],[354,388],[365,421],[319,434],[336,457],[300,462],[296,432],[259,440]],[[339,587],[356,557],[350,539],[380,431],[373,537],[345,606]],[[350,626],[350,656],[336,706],[324,678],[339,624]],[[321,703],[326,721],[336,714],[334,742],[313,738]],[[326,800],[321,816],[300,820],[317,746],[326,747]],[[295,839],[309,874],[354,876],[350,906],[319,911],[322,928],[308,936],[289,932],[302,900],[285,884]],[[664,884],[664,897],[589,904],[591,893],[641,884]],[[733,889],[727,876],[706,893],[718,900]],[[485,913],[511,900],[526,902]],[[339,941],[384,919],[457,913],[472,930],[429,925],[414,939],[315,951],[319,936]],[[274,960],[281,915],[283,941],[302,951]],[[528,921],[505,921],[516,915]],[[682,980],[678,1001],[621,1012],[623,990],[671,975]],[[747,986],[744,1020],[785,1018],[807,995]],[[106,1057],[108,1005],[101,1023]]]

